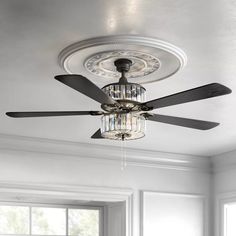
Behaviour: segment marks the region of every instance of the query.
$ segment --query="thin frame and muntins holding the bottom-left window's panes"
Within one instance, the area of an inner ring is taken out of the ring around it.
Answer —
[[[96,206],[96,205],[86,205],[86,204],[53,204],[53,203],[32,203],[32,202],[11,202],[11,201],[0,201],[0,206],[22,206],[29,208],[29,233],[28,234],[1,234],[0,236],[71,236],[68,234],[69,229],[69,209],[88,209],[88,210],[98,210],[99,214],[99,233],[98,236],[104,234],[104,207],[105,206]],[[66,233],[65,235],[40,235],[32,234],[32,208],[33,207],[45,207],[45,208],[64,208],[66,213]]]

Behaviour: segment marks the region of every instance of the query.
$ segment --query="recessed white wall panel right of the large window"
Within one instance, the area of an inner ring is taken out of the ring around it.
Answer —
[[[201,196],[143,193],[143,236],[204,236],[205,199]]]

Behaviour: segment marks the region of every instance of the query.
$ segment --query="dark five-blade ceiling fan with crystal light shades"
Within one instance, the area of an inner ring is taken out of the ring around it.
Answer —
[[[99,102],[103,111],[7,112],[6,115],[14,118],[75,115],[102,116],[101,129],[98,129],[91,138],[116,140],[142,138],[145,135],[146,120],[198,130],[208,130],[219,125],[216,122],[154,114],[151,111],[161,107],[231,93],[231,90],[226,86],[219,83],[211,83],[166,97],[145,101],[145,88],[140,84],[129,83],[125,77],[125,74],[132,66],[132,61],[120,58],[114,64],[117,71],[121,73],[121,78],[118,83],[108,84],[102,89],[82,75],[55,76],[56,80]]]

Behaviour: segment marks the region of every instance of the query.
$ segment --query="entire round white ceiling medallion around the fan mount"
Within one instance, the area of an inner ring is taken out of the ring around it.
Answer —
[[[118,35],[74,43],[59,54],[59,63],[69,74],[83,74],[95,83],[104,84],[119,78],[114,66],[119,58],[132,61],[127,77],[133,83],[168,78],[187,62],[185,53],[170,43],[136,35]]]

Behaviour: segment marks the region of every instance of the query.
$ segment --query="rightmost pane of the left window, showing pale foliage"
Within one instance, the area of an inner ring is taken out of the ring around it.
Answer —
[[[69,235],[98,236],[99,210],[69,209]]]

